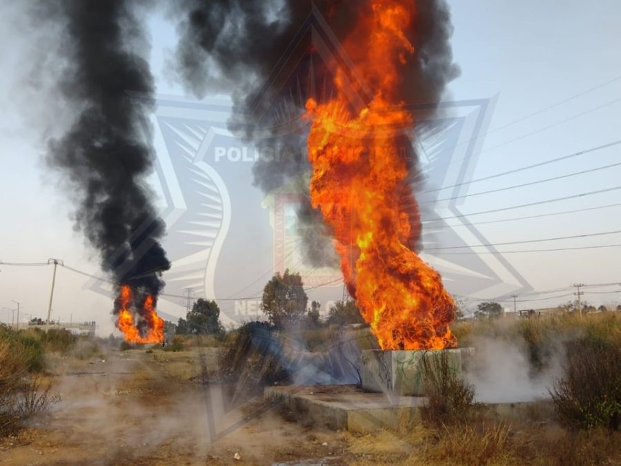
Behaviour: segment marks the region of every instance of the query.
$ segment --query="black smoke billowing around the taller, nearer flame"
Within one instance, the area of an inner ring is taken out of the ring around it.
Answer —
[[[300,179],[310,169],[306,129],[296,122],[306,98],[322,101],[330,97],[334,71],[317,58],[313,34],[324,43],[331,34],[343,41],[359,14],[372,8],[372,3],[185,0],[175,9],[180,35],[176,66],[186,87],[197,97],[215,91],[230,93],[235,108],[229,128],[259,150],[270,148],[282,154],[259,159],[253,166],[255,184],[263,191]],[[444,0],[411,0],[411,7],[416,11],[415,21],[406,37],[416,52],[400,70],[400,97],[411,106],[431,104],[426,113],[432,114],[446,84],[459,75],[449,42],[451,16]],[[415,171],[413,151],[411,158]],[[322,216],[308,200],[299,209],[298,220],[308,262],[331,264],[333,248]]]

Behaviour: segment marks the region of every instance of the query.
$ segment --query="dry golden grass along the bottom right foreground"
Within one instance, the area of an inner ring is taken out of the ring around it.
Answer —
[[[407,434],[346,434],[346,463],[371,465],[582,466],[621,463],[621,433],[477,420],[417,425]]]

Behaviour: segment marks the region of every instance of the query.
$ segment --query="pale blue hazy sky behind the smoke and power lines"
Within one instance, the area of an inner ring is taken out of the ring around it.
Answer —
[[[47,262],[48,258],[58,258],[72,269],[101,277],[95,251],[85,244],[73,227],[70,196],[63,189],[61,179],[43,162],[46,138],[59,130],[66,117],[62,103],[45,85],[48,70],[50,76],[55,75],[61,70],[61,63],[46,53],[43,43],[34,43],[33,35],[29,33],[34,26],[23,19],[23,11],[15,3],[18,2],[2,2],[0,6],[0,21],[3,22],[0,28],[0,69],[3,70],[0,86],[5,90],[0,93],[0,108],[3,110],[0,115],[0,212],[3,219],[0,260]],[[455,29],[453,54],[462,72],[449,84],[449,95],[445,100],[460,103],[460,115],[465,115],[464,127],[480,111],[466,102],[486,104],[484,130],[475,133],[464,129],[459,135],[458,144],[462,146],[473,138],[479,144],[472,155],[471,180],[587,151],[621,139],[618,133],[621,117],[620,32],[615,24],[621,14],[620,3],[599,1],[587,7],[584,2],[565,1],[562,8],[555,2],[534,0],[449,3]],[[186,300],[183,295],[187,287],[193,287],[193,298],[222,300],[219,302],[224,309],[225,322],[248,320],[257,315],[257,296],[279,260],[277,244],[282,238],[276,231],[279,217],[273,208],[277,196],[266,196],[252,185],[252,162],[232,161],[227,156],[215,158],[219,147],[244,146],[226,134],[228,96],[211,96],[204,102],[188,96],[170,67],[177,40],[175,28],[168,23],[163,12],[154,13],[148,24],[151,35],[149,59],[160,102],[156,115],[152,117],[158,170],[152,174],[150,182],[159,195],[158,206],[170,226],[164,245],[170,246],[170,253],[175,255],[170,275],[164,276],[168,283],[164,293],[174,296],[162,297],[159,309],[170,320],[184,315]],[[41,65],[38,68],[41,75],[29,72],[28,64],[32,61]],[[186,122],[186,126],[190,122],[190,126],[195,124],[198,129],[181,134],[180,122]],[[212,127],[215,133],[210,132]],[[195,144],[198,151],[204,137],[213,134],[214,144],[208,148],[203,162],[196,166],[207,180],[204,184],[215,186],[219,193],[218,202],[223,212],[219,220],[228,225],[228,229],[220,234],[219,246],[210,246],[207,252],[204,247],[201,249],[201,241],[193,240],[198,249],[196,257],[189,258],[190,253],[181,251],[183,248],[179,242],[183,240],[180,238],[190,234],[205,238],[210,233],[208,227],[203,229],[201,225],[195,225],[196,228],[188,233],[185,226],[175,224],[175,215],[179,215],[181,208],[179,202],[188,200],[184,194],[187,187],[184,180],[189,179],[177,171],[175,160],[179,157],[181,139],[188,144],[188,150],[191,151]],[[460,191],[460,195],[468,197],[457,200],[454,208],[465,215],[468,222],[476,223],[476,231],[473,233],[472,226],[461,224],[461,219],[447,220],[447,224],[454,225],[451,234],[464,244],[598,234],[553,242],[497,246],[497,251],[621,244],[620,234],[603,234],[621,230],[621,206],[549,215],[620,204],[621,191],[611,188],[621,185],[618,181],[621,166],[476,195],[482,191],[617,164],[621,162],[620,147],[610,146],[538,168],[472,182]],[[459,164],[460,154],[455,151],[450,163]],[[575,197],[600,190],[608,191]],[[441,192],[441,198],[453,193],[450,190]],[[559,197],[573,198],[477,214]],[[170,198],[174,200],[172,208]],[[434,204],[434,208],[444,217],[451,211],[447,202]],[[284,221],[290,221],[286,209],[284,215]],[[495,222],[533,216],[538,217]],[[454,244],[446,241],[443,246]],[[464,285],[468,280],[460,282],[455,279],[460,275],[446,274],[447,289],[460,296],[469,296],[469,302],[473,304],[515,292],[523,301],[520,309],[537,309],[573,298],[571,289],[558,293],[538,292],[569,287],[576,282],[621,283],[618,266],[621,248],[618,247],[509,253],[502,255],[502,260],[497,254],[490,254],[486,247],[477,246],[469,251],[481,254],[462,255],[466,262],[460,262],[459,266],[452,260],[455,255],[423,251],[423,257],[443,275],[444,270],[476,269],[475,265],[469,265],[475,264],[475,260],[484,262],[486,270],[493,271],[500,280],[493,289],[469,291]],[[307,284],[333,281],[309,291],[311,299],[322,302],[322,309],[328,309],[331,301],[342,297],[342,284],[334,271],[310,271],[297,259],[291,260],[293,262],[286,263],[302,267],[302,275],[308,275]],[[190,264],[192,261],[194,265]],[[197,268],[196,264],[200,265],[201,261],[202,265]],[[173,273],[175,264],[177,270],[186,273]],[[206,275],[210,275],[209,280]],[[12,311],[3,308],[16,307],[13,300],[20,302],[22,322],[32,315],[45,318],[51,280],[51,266],[0,264],[0,321],[12,318]],[[610,304],[620,300],[618,291],[621,291],[620,285],[591,287],[586,289],[584,299],[597,305]],[[507,301],[503,304],[511,307],[513,303]],[[52,319],[60,318],[63,322],[95,320],[98,333],[106,336],[115,331],[111,308],[109,287],[66,267],[58,268]]]

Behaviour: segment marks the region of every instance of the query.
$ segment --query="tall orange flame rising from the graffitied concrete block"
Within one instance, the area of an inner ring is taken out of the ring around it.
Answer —
[[[401,141],[414,121],[398,86],[399,68],[415,52],[405,33],[414,3],[371,0],[343,43],[353,66],[333,64],[335,97],[306,103],[311,202],[333,229],[344,280],[382,349],[457,345],[449,329],[455,303],[409,246],[420,218]],[[351,96],[365,93],[368,103],[352,110]]]

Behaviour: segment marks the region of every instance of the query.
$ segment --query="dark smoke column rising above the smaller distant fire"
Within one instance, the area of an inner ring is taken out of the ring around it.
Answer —
[[[153,77],[135,50],[146,37],[135,6],[140,2],[42,2],[39,21],[58,21],[66,35],[59,88],[73,110],[72,126],[50,142],[48,163],[61,172],[77,207],[77,228],[99,251],[102,269],[119,284],[159,293],[170,262],[159,239],[145,178],[152,156],[128,93],[152,106]]]

